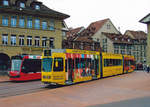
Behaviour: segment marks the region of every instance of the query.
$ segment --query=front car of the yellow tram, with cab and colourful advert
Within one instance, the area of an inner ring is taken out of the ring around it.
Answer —
[[[42,82],[64,85],[98,79],[101,74],[99,58],[98,54],[53,53],[48,64],[43,56]]]

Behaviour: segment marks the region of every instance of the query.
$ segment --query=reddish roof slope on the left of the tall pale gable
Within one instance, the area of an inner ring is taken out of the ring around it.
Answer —
[[[96,33],[108,20],[109,19],[104,19],[104,20],[93,22],[87,27],[87,30]]]

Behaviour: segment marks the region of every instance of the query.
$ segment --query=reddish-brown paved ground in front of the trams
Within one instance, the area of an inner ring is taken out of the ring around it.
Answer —
[[[133,72],[96,81],[1,98],[1,107],[86,107],[150,96],[150,74]],[[144,106],[143,106],[144,107]]]

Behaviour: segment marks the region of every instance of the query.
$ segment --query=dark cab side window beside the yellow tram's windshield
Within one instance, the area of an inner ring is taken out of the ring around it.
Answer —
[[[54,58],[54,66],[53,66],[54,72],[63,71],[63,68],[64,68],[63,58]]]

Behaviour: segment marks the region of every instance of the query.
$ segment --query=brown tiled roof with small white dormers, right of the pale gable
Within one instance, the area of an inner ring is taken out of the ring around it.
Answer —
[[[128,35],[121,35],[115,33],[103,33],[106,37],[108,37],[113,43],[118,44],[132,44],[132,38]]]

